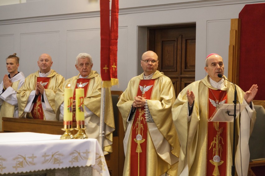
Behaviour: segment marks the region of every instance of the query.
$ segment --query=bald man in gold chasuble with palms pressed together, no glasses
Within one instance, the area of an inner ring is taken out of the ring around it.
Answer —
[[[50,55],[40,55],[40,70],[26,77],[24,85],[17,91],[19,117],[56,120],[54,98],[64,77],[51,69],[52,64]]]

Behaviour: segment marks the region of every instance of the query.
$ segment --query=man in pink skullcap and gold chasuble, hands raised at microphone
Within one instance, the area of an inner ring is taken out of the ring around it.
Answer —
[[[208,120],[221,104],[233,104],[235,86],[225,80],[225,76],[218,77],[218,74],[224,74],[223,58],[220,55],[208,55],[205,63],[208,75],[185,87],[172,108],[173,121],[181,145],[178,168],[178,175],[181,176],[231,175],[233,122]],[[240,104],[248,104],[242,110],[240,118],[237,117],[235,129],[238,139],[235,143],[235,169],[237,175],[246,176],[249,166],[248,141],[256,120],[252,100],[257,94],[258,86],[253,85],[247,92],[239,86],[236,86],[236,90]]]

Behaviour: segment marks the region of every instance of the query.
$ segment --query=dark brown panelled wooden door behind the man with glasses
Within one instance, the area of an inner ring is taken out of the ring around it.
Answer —
[[[150,27],[147,50],[158,55],[158,70],[170,77],[176,96],[195,81],[196,24]]]

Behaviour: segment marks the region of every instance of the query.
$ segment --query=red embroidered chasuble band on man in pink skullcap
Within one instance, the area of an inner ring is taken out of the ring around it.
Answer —
[[[211,100],[213,100],[211,102]],[[216,111],[213,104],[227,103],[227,92],[208,89],[208,119]],[[213,104],[212,104],[213,103]],[[227,172],[227,122],[208,122],[207,124],[207,176],[225,176]]]

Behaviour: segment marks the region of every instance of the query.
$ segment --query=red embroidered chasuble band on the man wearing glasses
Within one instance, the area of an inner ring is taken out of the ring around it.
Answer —
[[[142,96],[145,99],[151,99],[155,82],[156,79],[141,80],[138,85],[137,96]],[[146,175],[147,124],[145,121],[145,107],[137,108],[131,132],[131,176]]]

